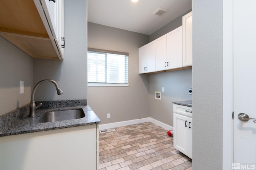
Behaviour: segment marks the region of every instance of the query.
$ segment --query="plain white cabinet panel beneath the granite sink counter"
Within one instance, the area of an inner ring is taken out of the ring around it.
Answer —
[[[98,170],[98,124],[0,137],[1,170]]]

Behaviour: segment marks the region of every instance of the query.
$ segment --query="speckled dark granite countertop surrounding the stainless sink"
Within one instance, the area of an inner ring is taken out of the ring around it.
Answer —
[[[76,100],[77,102],[78,100]],[[63,102],[63,101],[61,101]],[[40,131],[48,131],[54,129],[62,129],[67,127],[77,127],[84,125],[92,125],[100,123],[100,119],[97,115],[92,111],[90,106],[83,103],[78,104],[79,106],[74,106],[76,102],[63,102],[60,104],[60,101],[56,101],[60,106],[54,106],[49,109],[44,108],[36,110],[35,117],[28,117],[29,115],[29,105],[24,106],[20,109],[16,109],[12,113],[8,113],[6,115],[2,115],[0,117],[0,137],[10,136],[10,135],[18,135],[24,133],[32,133],[32,132],[40,132]],[[66,104],[66,103],[72,103]],[[48,104],[43,104],[44,106],[48,106]],[[67,110],[67,109],[83,109],[85,117],[80,119],[72,119],[72,120],[64,120],[64,121],[55,121],[55,122],[47,122],[47,123],[39,123],[38,120],[43,113],[53,110]]]

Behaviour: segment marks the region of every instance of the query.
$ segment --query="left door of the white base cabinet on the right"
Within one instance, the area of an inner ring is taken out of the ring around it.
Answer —
[[[188,117],[173,113],[173,146],[188,155]]]

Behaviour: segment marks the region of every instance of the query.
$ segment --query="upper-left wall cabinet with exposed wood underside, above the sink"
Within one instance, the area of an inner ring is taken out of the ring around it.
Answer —
[[[63,1],[0,0],[0,35],[31,57],[62,60]]]

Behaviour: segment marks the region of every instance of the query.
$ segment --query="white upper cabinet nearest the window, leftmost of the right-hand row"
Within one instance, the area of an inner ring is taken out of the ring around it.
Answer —
[[[139,48],[139,73],[155,71],[155,41]]]

